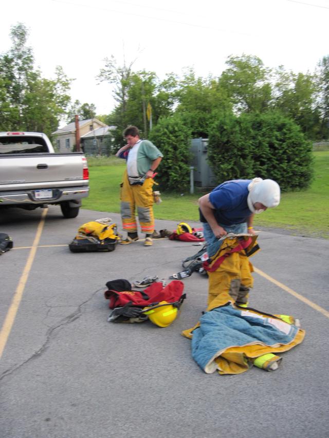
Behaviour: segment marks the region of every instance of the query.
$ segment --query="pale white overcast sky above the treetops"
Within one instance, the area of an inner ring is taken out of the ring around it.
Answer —
[[[0,52],[17,22],[30,29],[35,65],[52,78],[57,65],[76,80],[72,100],[114,106],[112,88],[97,85],[104,58],[134,70],[219,76],[229,55],[256,55],[267,67],[313,72],[329,54],[329,0],[5,0]]]

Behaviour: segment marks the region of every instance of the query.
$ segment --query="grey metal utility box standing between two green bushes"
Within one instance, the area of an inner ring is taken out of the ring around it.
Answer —
[[[208,139],[192,139],[191,166],[194,167],[194,184],[196,187],[215,187],[217,185],[216,177],[212,172],[207,161]]]

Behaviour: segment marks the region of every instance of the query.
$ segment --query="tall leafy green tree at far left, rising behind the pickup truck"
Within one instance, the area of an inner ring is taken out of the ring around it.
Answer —
[[[42,131],[50,136],[70,101],[67,92],[72,80],[61,67],[53,80],[42,78],[40,70],[34,69],[24,24],[13,26],[10,35],[12,47],[0,55],[1,129]]]

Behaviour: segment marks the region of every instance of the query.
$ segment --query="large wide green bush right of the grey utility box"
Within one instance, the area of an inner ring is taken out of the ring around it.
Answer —
[[[312,143],[278,112],[226,115],[209,132],[208,160],[218,181],[271,178],[282,191],[307,188]]]

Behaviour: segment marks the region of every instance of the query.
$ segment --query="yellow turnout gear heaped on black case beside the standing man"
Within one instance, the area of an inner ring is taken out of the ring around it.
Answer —
[[[117,224],[102,218],[81,225],[68,246],[72,253],[114,251],[119,240]]]

